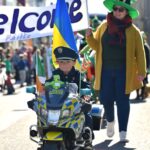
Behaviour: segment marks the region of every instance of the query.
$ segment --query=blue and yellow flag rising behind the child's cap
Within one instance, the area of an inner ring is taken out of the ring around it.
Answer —
[[[78,53],[65,0],[57,0],[56,4],[52,47],[52,59],[54,65],[56,62],[56,58],[53,52],[54,49],[59,46],[71,48],[76,51],[76,53]],[[79,59],[76,64],[76,68],[80,69]]]

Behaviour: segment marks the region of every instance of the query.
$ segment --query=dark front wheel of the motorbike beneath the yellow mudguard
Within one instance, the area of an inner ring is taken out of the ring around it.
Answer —
[[[63,142],[46,141],[42,146],[42,150],[66,150]]]

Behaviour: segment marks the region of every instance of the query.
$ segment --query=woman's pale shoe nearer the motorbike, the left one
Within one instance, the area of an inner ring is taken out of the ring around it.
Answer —
[[[113,137],[114,136],[114,134],[115,134],[114,126],[115,126],[114,121],[112,121],[112,122],[107,121],[107,136],[108,137]]]

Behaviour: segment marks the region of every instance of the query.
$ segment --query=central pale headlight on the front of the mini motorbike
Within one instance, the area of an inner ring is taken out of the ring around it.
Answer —
[[[56,125],[59,121],[60,110],[49,110],[47,122],[48,124]]]

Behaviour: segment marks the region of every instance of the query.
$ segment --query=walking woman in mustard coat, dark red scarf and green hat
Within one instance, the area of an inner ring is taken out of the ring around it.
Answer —
[[[138,10],[132,0],[104,0],[109,9],[107,18],[95,33],[89,28],[86,39],[96,50],[94,88],[100,90],[107,119],[107,135],[115,133],[114,101],[117,106],[120,141],[127,142],[130,113],[129,95],[141,88],[146,75],[146,61],[140,30],[132,20]]]

